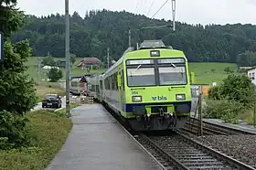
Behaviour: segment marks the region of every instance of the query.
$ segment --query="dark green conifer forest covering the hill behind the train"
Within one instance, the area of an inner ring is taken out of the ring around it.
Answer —
[[[28,39],[34,56],[65,56],[65,16],[27,16],[28,23],[12,35],[12,41]],[[70,53],[77,57],[106,60],[107,48],[113,59],[128,48],[128,30],[132,46],[145,39],[162,39],[165,45],[183,50],[190,62],[229,62],[240,66],[256,64],[256,26],[188,25],[177,22],[171,27],[142,30],[142,27],[170,25],[171,20],[151,19],[125,11],[87,11],[70,15]]]

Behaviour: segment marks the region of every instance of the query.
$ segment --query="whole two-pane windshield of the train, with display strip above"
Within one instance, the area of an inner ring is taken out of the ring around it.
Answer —
[[[129,59],[126,67],[130,87],[187,84],[185,58]]]

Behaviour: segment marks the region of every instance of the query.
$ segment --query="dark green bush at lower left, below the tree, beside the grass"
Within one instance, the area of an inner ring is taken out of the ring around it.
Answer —
[[[0,149],[8,150],[27,146],[27,118],[18,114],[0,112]]]

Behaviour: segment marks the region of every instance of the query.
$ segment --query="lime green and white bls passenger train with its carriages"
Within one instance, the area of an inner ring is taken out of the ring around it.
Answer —
[[[144,40],[104,73],[87,77],[88,92],[136,131],[176,130],[190,115],[191,75],[182,50]]]

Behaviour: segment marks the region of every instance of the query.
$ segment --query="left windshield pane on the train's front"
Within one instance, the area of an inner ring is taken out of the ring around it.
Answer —
[[[128,86],[154,86],[155,68],[127,69]]]

